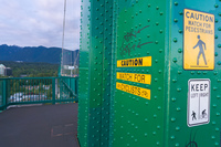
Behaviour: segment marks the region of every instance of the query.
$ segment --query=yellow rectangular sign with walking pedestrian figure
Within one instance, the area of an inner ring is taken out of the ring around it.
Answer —
[[[214,15],[185,9],[183,69],[214,69]]]

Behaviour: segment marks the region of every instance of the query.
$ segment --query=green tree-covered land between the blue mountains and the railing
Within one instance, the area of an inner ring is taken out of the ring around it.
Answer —
[[[57,76],[59,64],[50,63],[18,63],[1,61],[7,67],[11,67],[12,76],[20,77],[21,75],[27,75],[28,77],[50,77]]]

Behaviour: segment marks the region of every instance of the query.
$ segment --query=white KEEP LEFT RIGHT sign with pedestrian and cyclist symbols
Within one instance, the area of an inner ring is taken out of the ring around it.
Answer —
[[[210,122],[210,80],[189,80],[188,126],[199,126]]]

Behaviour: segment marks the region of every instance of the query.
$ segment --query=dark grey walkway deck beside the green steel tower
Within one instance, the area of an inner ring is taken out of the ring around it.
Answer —
[[[1,147],[78,147],[77,104],[9,108],[0,113]]]

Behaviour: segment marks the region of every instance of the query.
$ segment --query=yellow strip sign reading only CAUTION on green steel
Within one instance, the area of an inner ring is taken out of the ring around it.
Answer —
[[[118,60],[117,67],[151,66],[151,56]]]

